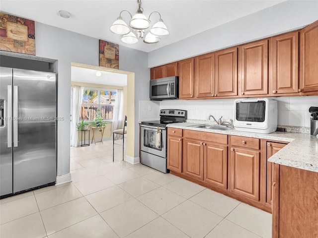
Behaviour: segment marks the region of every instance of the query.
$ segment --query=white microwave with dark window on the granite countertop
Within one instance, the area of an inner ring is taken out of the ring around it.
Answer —
[[[268,98],[237,99],[234,102],[236,130],[268,134],[277,128],[277,101]]]

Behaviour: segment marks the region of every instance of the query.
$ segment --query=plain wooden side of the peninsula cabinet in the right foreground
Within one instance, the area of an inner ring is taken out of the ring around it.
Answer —
[[[274,164],[273,238],[318,237],[318,173]]]

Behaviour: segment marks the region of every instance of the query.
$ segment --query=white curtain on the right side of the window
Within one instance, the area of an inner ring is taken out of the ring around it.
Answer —
[[[117,89],[116,90],[116,101],[114,106],[113,112],[113,123],[111,127],[111,131],[123,128],[123,110],[124,110],[124,100],[123,100],[123,90]],[[111,134],[113,136],[113,133]],[[121,135],[115,135],[115,140],[120,139]]]

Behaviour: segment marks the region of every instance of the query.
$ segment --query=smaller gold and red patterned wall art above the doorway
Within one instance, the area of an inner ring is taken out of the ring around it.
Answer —
[[[99,66],[119,69],[119,45],[99,40]]]

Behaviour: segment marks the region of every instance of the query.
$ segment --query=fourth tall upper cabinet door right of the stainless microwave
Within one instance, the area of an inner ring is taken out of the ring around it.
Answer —
[[[268,40],[240,46],[241,95],[268,94]]]

